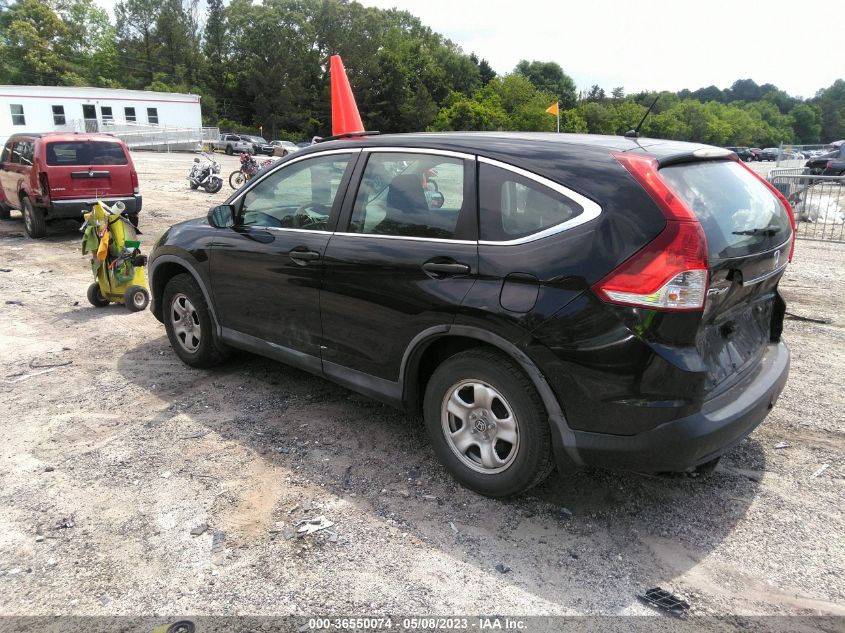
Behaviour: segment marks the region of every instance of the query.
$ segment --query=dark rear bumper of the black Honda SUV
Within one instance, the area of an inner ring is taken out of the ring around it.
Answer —
[[[637,435],[570,430],[567,452],[585,465],[643,472],[683,471],[727,452],[768,415],[789,375],[789,349],[772,343],[737,385],[696,414]]]

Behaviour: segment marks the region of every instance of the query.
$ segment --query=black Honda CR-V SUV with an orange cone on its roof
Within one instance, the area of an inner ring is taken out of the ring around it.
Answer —
[[[556,463],[708,468],[786,381],[792,211],[724,149],[566,134],[370,136],[280,161],[150,256],[208,367],[248,350],[422,411],[487,495]]]

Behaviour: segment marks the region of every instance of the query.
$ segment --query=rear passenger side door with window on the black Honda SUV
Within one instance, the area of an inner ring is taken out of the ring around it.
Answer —
[[[411,340],[451,324],[476,279],[475,157],[370,148],[364,159],[326,249],[323,371],[395,382]]]

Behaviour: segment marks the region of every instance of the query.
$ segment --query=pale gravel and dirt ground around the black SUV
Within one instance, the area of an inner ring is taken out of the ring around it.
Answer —
[[[189,190],[191,158],[135,156],[145,251],[231,191]],[[0,615],[652,614],[654,586],[697,614],[845,615],[843,245],[799,241],[788,310],[832,322],[786,322],[786,390],[713,476],[494,501],[417,419],[247,354],[186,367],[148,311],[88,304],[73,222],[48,231],[0,221]]]

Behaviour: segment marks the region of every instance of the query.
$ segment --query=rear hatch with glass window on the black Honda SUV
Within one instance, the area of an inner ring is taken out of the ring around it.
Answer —
[[[696,348],[715,396],[757,364],[783,319],[777,285],[789,261],[789,212],[766,184],[731,160],[685,162],[661,178],[698,218],[709,283]],[[778,305],[780,304],[780,305]]]

